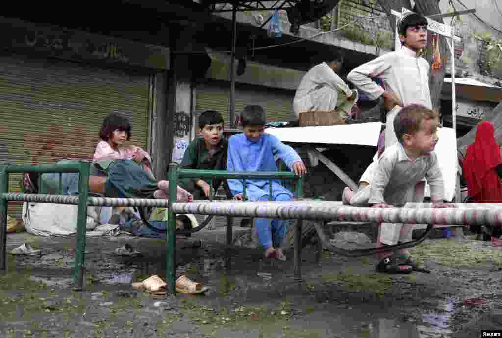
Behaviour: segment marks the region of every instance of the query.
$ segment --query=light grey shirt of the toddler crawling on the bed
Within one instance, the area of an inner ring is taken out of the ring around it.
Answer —
[[[368,203],[404,205],[408,191],[424,177],[431,188],[432,200],[443,200],[443,174],[436,152],[412,161],[401,143],[396,143],[387,148],[380,158],[371,182]]]

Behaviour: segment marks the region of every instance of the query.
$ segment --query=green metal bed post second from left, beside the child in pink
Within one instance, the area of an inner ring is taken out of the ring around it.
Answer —
[[[80,162],[78,176],[78,220],[77,250],[75,252],[75,274],[73,280],[75,290],[82,290],[85,276],[85,231],[87,226],[87,197],[89,194],[90,163]]]

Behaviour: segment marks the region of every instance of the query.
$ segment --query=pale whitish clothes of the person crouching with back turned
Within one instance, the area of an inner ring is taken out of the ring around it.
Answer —
[[[353,91],[323,62],[312,67],[303,77],[293,100],[294,118],[298,120],[301,112],[314,110],[336,110],[340,116],[350,116],[350,111],[358,99],[347,101]]]

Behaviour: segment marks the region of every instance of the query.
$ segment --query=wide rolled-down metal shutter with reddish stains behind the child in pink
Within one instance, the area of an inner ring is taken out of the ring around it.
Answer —
[[[103,119],[127,117],[132,143],[146,149],[149,76],[56,60],[0,57],[0,162],[92,160]],[[19,191],[21,175],[9,175]],[[21,206],[9,203],[11,216]]]

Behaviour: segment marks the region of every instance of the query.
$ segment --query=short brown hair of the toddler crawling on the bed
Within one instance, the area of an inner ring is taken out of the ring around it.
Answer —
[[[403,143],[404,134],[414,134],[420,130],[424,120],[438,119],[439,114],[422,105],[408,105],[403,107],[394,119],[394,132],[400,143]]]

